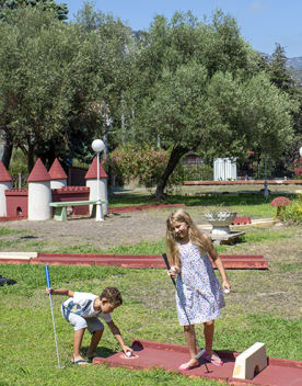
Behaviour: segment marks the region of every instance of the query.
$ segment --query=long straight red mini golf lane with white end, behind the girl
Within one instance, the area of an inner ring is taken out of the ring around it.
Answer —
[[[268,261],[262,254],[220,254],[225,269],[267,270]],[[89,254],[2,252],[0,263],[57,265],[115,265],[121,268],[165,268],[162,257],[152,254]],[[213,264],[213,268],[216,265]]]

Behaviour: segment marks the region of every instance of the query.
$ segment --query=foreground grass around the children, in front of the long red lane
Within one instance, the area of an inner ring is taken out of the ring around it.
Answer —
[[[184,344],[177,325],[174,288],[163,270],[127,270],[102,266],[49,266],[54,287],[70,287],[98,294],[115,285],[124,295],[124,305],[114,311],[114,320],[125,341],[148,339]],[[243,351],[256,341],[265,342],[269,356],[302,361],[302,320],[297,310],[284,313],[283,285],[275,288],[274,281],[282,273],[301,277],[302,266],[288,272],[280,265],[276,272],[229,272],[234,292],[228,296],[223,318],[217,321],[214,348]],[[219,385],[214,382],[175,377],[163,371],[132,372],[100,366],[70,365],[72,329],[61,317],[59,306],[65,297],[54,296],[54,309],[61,363],[57,368],[49,299],[45,295],[45,272],[42,265],[1,266],[1,274],[14,277],[16,285],[1,287],[1,373],[0,385]],[[298,284],[298,283],[295,283]],[[300,279],[300,286],[301,286]],[[265,287],[267,285],[267,290]],[[292,293],[289,285],[289,293]],[[277,296],[274,294],[278,292]],[[272,304],[277,300],[277,304]],[[298,307],[295,304],[295,307]],[[202,342],[201,328],[198,329]],[[84,337],[83,348],[89,344]],[[105,329],[98,354],[108,355],[118,345]],[[96,382],[97,379],[97,382]]]

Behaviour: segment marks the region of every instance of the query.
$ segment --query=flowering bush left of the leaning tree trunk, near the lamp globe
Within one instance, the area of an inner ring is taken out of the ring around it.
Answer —
[[[109,158],[114,172],[125,181],[137,178],[142,185],[150,188],[163,172],[167,154],[148,146],[138,149],[127,145],[116,148]]]

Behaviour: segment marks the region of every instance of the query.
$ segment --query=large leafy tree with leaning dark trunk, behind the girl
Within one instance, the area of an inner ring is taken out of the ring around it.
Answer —
[[[234,19],[220,11],[211,24],[190,13],[175,13],[170,22],[156,16],[144,42],[130,98],[137,139],[155,145],[160,138],[171,150],[158,198],[188,150],[240,157],[254,141],[268,148],[270,138],[278,148],[289,139],[293,106],[267,76],[257,76],[257,55]]]

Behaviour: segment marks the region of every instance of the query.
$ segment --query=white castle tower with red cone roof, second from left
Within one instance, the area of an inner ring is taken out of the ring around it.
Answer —
[[[51,217],[50,175],[38,158],[28,179],[28,219],[45,220]]]

